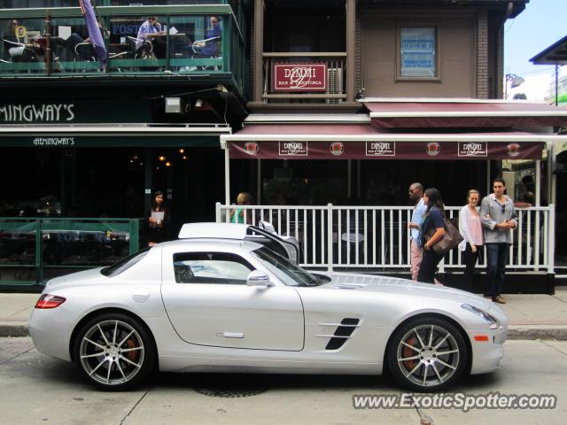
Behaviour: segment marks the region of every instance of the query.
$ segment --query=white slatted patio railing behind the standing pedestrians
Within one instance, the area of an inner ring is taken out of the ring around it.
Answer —
[[[229,222],[235,209],[245,210],[247,222],[270,221],[281,235],[295,236],[302,267],[408,269],[408,222],[411,206],[336,205],[216,205],[216,221]],[[446,206],[458,222],[460,206]],[[512,232],[509,267],[554,273],[555,206],[518,208],[518,226]],[[439,271],[464,267],[454,249]],[[484,268],[486,259],[478,265]]]

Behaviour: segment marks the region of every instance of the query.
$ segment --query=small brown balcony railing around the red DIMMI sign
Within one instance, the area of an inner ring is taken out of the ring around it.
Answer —
[[[338,104],[346,99],[346,52],[274,52],[263,53],[263,93],[268,102],[314,102]],[[282,92],[274,90],[273,67],[276,64],[326,64],[327,87],[322,93]]]

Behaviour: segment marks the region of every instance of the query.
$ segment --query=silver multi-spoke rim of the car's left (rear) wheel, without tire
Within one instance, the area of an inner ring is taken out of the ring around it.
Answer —
[[[99,321],[82,336],[79,356],[83,370],[104,385],[128,383],[144,364],[144,341],[125,321]]]

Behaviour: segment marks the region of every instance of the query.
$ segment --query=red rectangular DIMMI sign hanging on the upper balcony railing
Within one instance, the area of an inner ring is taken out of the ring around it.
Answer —
[[[274,91],[326,91],[327,64],[272,65]]]

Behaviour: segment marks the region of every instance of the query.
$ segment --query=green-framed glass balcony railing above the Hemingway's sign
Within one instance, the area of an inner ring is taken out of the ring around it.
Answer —
[[[107,29],[104,70],[80,8],[0,11],[0,77],[232,73],[245,81],[242,60],[233,58],[245,56],[244,22],[228,4],[98,9]],[[159,31],[144,35],[140,27],[148,16],[157,17]],[[217,28],[212,16],[220,21]]]

